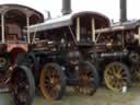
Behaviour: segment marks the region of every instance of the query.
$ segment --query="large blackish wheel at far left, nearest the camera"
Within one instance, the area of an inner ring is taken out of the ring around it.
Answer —
[[[35,94],[33,74],[25,66],[18,67],[11,78],[11,93],[15,105],[31,105]]]

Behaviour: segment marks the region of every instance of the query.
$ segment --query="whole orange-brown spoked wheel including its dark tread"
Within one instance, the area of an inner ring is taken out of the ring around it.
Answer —
[[[57,63],[47,63],[40,72],[40,91],[45,98],[61,100],[66,91],[66,77]]]

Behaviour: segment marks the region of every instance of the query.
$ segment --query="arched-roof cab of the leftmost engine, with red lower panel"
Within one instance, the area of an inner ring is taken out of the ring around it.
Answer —
[[[0,55],[10,54],[15,59],[19,52],[28,50],[27,26],[44,22],[40,12],[19,4],[0,5]]]

